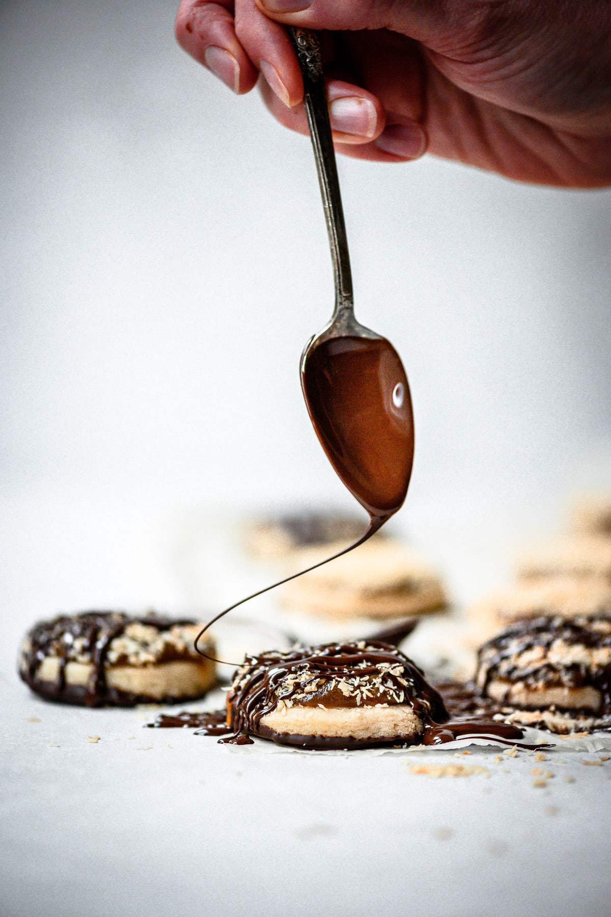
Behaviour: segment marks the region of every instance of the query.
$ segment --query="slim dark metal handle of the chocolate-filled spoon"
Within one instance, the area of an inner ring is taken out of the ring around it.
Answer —
[[[331,123],[327,92],[322,72],[321,45],[318,36],[309,28],[289,27],[289,35],[300,62],[305,106],[310,125],[311,145],[314,148],[316,170],[321,185],[322,206],[329,233],[333,275],[335,279],[335,312],[333,318],[342,313],[353,312],[354,296],[350,254],[346,238],[344,209],[340,182],[337,177],[337,163],[333,149]]]

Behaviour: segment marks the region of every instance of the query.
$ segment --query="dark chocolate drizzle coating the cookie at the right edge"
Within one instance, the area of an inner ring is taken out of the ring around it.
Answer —
[[[507,681],[507,685],[519,681],[531,691],[541,687],[592,686],[600,691],[602,698],[598,715],[611,714],[610,664],[593,669],[584,665],[583,661],[573,661],[570,657],[566,663],[554,659],[553,664],[548,658],[548,652],[556,641],[566,646],[584,646],[593,650],[611,647],[611,626],[606,628],[605,633],[595,624],[595,619],[560,616],[541,616],[511,624],[488,640],[478,652],[476,681],[479,691],[485,696],[493,679]],[[540,657],[535,656],[530,665],[524,665],[522,654],[539,647],[543,650]],[[571,713],[578,712],[572,709]],[[592,715],[591,711],[583,713]]]

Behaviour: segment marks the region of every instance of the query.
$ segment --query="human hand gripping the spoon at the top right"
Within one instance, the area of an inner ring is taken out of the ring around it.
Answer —
[[[611,184],[608,0],[182,0],[180,45],[308,132],[280,23],[322,29],[333,139],[358,159],[425,150],[523,182]]]

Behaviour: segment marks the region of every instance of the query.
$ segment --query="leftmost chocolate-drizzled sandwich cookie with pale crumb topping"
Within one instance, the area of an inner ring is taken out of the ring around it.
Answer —
[[[98,707],[196,700],[216,683],[193,646],[202,624],[157,614],[62,614],[28,631],[19,674],[49,701]],[[202,649],[214,655],[211,639]]]

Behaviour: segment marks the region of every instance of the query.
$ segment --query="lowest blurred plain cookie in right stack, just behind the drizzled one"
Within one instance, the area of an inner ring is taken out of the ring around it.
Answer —
[[[465,611],[465,621],[471,642],[477,645],[507,624],[541,615],[611,618],[611,584],[604,578],[560,576],[517,583],[474,602]]]

